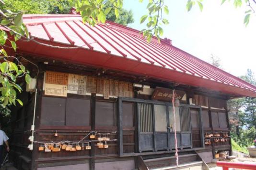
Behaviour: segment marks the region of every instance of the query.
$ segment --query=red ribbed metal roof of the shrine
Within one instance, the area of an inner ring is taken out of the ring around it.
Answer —
[[[139,31],[106,21],[94,27],[80,15],[23,15],[31,36],[53,45],[81,46],[52,49],[34,42],[20,42],[19,51],[143,74],[185,85],[205,87],[236,96],[256,96],[256,86],[156,38],[148,43]],[[53,51],[54,50],[54,51]]]

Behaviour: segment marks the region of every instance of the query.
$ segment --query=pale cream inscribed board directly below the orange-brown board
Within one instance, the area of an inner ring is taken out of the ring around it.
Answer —
[[[67,85],[45,84],[45,95],[67,97]]]

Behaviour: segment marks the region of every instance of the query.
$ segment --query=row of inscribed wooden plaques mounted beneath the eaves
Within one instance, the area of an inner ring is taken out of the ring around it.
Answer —
[[[92,76],[46,71],[44,79],[45,95],[64,96],[68,93],[87,95],[133,97],[133,85],[127,82],[109,80]]]

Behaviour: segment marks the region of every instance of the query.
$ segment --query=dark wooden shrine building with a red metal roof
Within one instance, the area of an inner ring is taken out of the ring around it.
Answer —
[[[92,27],[73,11],[23,22],[33,40],[12,53],[32,81],[12,108],[19,170],[170,169],[175,131],[183,167],[231,155],[226,101],[256,86],[112,21]]]

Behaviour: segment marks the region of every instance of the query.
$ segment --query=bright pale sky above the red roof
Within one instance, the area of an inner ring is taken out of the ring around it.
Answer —
[[[244,26],[244,11],[247,7],[234,8],[232,2],[204,0],[201,12],[198,6],[186,11],[187,0],[165,0],[169,7],[169,25],[164,26],[163,38],[170,38],[173,45],[209,61],[210,54],[221,58],[223,70],[239,76],[247,68],[256,74],[256,15]],[[148,0],[124,0],[123,7],[132,10],[135,22],[129,27],[141,30],[140,17],[147,14]]]

